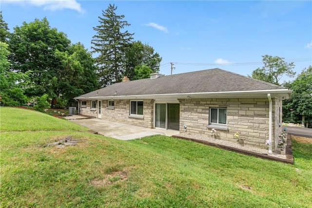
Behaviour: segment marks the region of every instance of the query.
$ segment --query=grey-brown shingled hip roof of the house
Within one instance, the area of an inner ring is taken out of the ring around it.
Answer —
[[[215,68],[183,74],[160,76],[155,79],[146,78],[128,82],[119,82],[75,98],[264,90],[287,91],[288,89],[251,77]]]

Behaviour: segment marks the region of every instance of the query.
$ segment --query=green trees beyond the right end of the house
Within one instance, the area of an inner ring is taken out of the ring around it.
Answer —
[[[291,99],[283,100],[283,121],[312,128],[312,66],[303,69],[293,81],[280,83],[282,76],[295,76],[293,62],[277,56],[262,57],[264,66],[255,69],[251,77],[292,90]]]

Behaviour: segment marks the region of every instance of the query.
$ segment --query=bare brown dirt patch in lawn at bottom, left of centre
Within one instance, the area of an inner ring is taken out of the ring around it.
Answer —
[[[117,171],[110,174],[106,174],[104,179],[94,179],[90,183],[95,187],[102,187],[105,185],[111,185],[117,181],[125,181],[128,179],[127,171]]]

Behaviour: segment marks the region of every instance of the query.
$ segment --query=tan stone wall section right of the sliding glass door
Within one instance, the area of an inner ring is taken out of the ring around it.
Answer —
[[[276,125],[274,110],[273,126]],[[180,102],[180,132],[187,125],[187,132],[199,135],[211,135],[209,124],[209,108],[227,108],[228,131],[216,130],[215,138],[237,142],[234,133],[239,133],[243,144],[266,148],[265,141],[269,139],[269,100],[268,98],[211,98],[211,99],[179,99]],[[277,121],[278,122],[278,121]],[[274,131],[272,132],[274,137]],[[274,142],[274,138],[272,138]],[[272,144],[274,149],[274,144]]]

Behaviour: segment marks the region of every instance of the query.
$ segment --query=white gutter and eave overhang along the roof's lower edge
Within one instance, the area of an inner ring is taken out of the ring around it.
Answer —
[[[156,98],[176,98],[176,99],[190,99],[190,98],[237,98],[237,97],[251,97],[251,98],[267,98],[268,94],[279,96],[281,99],[289,99],[292,96],[292,90],[257,90],[257,91],[230,91],[230,92],[211,92],[211,93],[177,93],[177,94],[155,94],[155,95],[118,95],[118,96],[92,96],[92,97],[75,97],[78,100],[90,99],[156,99]]]

